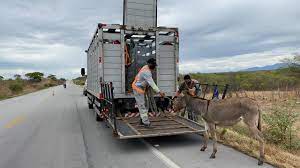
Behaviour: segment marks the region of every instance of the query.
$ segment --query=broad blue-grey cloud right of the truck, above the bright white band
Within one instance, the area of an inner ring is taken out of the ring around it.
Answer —
[[[179,27],[180,55],[192,60],[299,48],[299,10],[295,0],[178,1],[159,23]]]

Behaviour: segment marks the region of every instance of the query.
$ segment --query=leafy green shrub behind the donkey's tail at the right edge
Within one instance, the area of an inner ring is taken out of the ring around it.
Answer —
[[[267,124],[263,132],[265,139],[287,149],[299,149],[299,139],[293,127],[298,117],[299,114],[293,112],[291,106],[275,107],[272,113],[264,114],[263,119]]]

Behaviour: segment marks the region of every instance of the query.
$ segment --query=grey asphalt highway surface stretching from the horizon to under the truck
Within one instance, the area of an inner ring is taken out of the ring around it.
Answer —
[[[199,135],[117,140],[73,84],[0,101],[0,168],[239,168],[257,160]],[[265,164],[262,167],[271,167]]]

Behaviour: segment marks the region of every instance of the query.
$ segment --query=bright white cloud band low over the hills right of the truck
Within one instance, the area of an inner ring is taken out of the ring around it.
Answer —
[[[293,56],[293,52],[299,52],[300,49],[280,48],[273,51],[236,55],[232,57],[220,58],[203,58],[196,61],[183,61],[180,64],[181,73],[190,72],[234,72],[245,70],[253,66],[262,67],[276,64],[284,58]],[[291,54],[286,54],[291,53]]]

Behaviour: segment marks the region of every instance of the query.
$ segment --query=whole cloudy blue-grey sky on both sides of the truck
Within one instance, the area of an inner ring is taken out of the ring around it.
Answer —
[[[97,23],[122,23],[123,0],[0,0],[0,75],[80,76]],[[158,0],[180,31],[180,72],[228,72],[300,53],[298,0]]]

